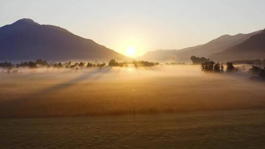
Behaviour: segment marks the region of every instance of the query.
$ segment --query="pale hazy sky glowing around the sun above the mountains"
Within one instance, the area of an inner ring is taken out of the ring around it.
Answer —
[[[126,54],[265,28],[265,0],[0,0],[0,26],[30,18]]]

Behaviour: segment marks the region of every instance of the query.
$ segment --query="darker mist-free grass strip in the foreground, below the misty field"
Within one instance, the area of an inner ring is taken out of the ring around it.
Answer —
[[[0,119],[0,149],[264,149],[265,109]]]

